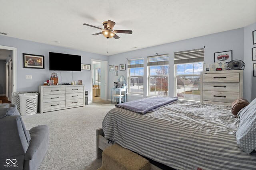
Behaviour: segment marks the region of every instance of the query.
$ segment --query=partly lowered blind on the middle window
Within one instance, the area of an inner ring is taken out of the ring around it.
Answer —
[[[148,57],[148,66],[168,65],[169,54],[154,55]]]

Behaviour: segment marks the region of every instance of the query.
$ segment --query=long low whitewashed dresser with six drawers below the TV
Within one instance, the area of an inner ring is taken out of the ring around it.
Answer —
[[[84,85],[39,86],[39,112],[84,106]]]

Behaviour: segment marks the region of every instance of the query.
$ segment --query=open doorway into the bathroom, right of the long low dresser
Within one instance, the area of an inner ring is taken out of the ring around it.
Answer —
[[[92,102],[104,103],[108,96],[108,62],[92,59]]]

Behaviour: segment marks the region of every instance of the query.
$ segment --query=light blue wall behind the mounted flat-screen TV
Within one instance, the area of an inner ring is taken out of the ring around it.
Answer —
[[[90,64],[91,59],[108,61],[108,57],[105,55],[98,55],[85,51],[78,51],[54,45],[47,45],[23,39],[6,37],[3,35],[0,35],[0,45],[17,48],[17,92],[38,91],[38,86],[42,85],[47,79],[50,78],[51,73],[54,71],[49,70],[49,51],[81,55],[82,63],[85,64]],[[23,68],[22,53],[44,55],[44,69]],[[72,60],[70,60],[70,64],[72,64]],[[58,74],[59,84],[61,81],[72,81],[72,71],[61,71],[61,74],[60,71],[55,72]],[[32,79],[25,79],[25,75],[32,75]],[[91,101],[91,70],[82,70],[80,72],[74,71],[73,81],[78,82],[77,80],[82,80],[83,84],[85,84],[85,90],[88,91],[88,101]]]

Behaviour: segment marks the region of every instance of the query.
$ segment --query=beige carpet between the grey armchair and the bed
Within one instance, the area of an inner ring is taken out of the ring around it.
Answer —
[[[22,116],[26,129],[49,126],[49,148],[38,170],[96,170],[96,129],[114,104],[92,103],[59,111]]]

